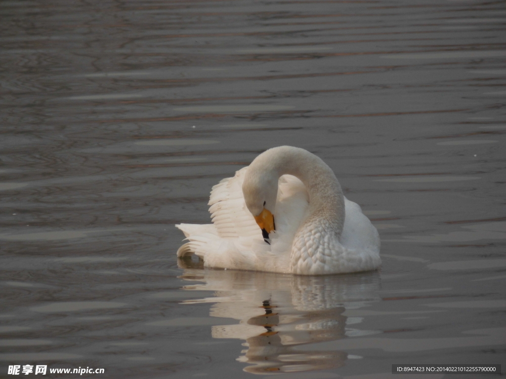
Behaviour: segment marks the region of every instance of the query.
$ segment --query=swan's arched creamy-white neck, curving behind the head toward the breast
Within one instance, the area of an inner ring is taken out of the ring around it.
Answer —
[[[309,215],[304,224],[324,220],[335,233],[341,234],[345,220],[341,185],[332,169],[316,155],[304,149],[281,146],[259,155],[250,168],[263,170],[276,179],[284,174],[301,179],[309,193]]]

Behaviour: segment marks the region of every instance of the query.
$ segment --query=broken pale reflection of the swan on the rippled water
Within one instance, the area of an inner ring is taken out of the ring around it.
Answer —
[[[246,349],[237,358],[249,364],[244,371],[266,374],[342,367],[346,352],[305,351],[298,346],[377,333],[354,328],[362,319],[344,313],[379,300],[378,272],[293,276],[199,269],[191,260],[179,261],[185,268],[180,278],[203,282],[183,290],[215,291],[214,297],[183,303],[214,303],[210,316],[239,320],[213,326],[212,336],[245,340]]]

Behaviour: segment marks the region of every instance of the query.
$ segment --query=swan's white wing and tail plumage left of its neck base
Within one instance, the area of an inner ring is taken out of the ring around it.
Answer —
[[[308,194],[296,177],[283,175],[276,203],[276,233],[271,245],[264,242],[262,231],[246,208],[242,182],[247,167],[213,187],[209,212],[213,224],[180,224],[189,242],[178,256],[195,253],[209,267],[288,272],[293,236],[308,208]]]

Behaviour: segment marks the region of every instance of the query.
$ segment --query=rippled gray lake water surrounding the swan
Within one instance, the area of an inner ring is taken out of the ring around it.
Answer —
[[[0,17],[1,377],[504,372],[503,1],[14,0]],[[178,262],[174,224],[208,223],[210,188],[280,145],[334,170],[380,271]]]

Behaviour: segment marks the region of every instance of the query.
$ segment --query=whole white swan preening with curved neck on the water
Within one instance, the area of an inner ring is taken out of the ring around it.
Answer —
[[[213,187],[212,224],[179,224],[204,266],[322,275],[381,265],[379,235],[334,173],[308,151],[281,146]]]

